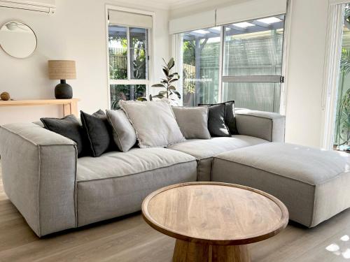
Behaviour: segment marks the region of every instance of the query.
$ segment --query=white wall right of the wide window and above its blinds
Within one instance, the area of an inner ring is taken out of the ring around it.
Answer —
[[[212,10],[243,0],[207,1],[171,10],[170,17]],[[322,86],[328,0],[290,0],[292,13],[286,72],[286,142],[321,147]]]

